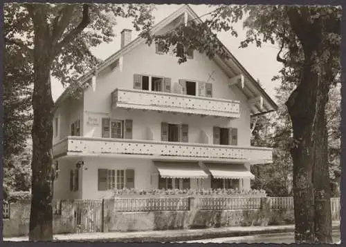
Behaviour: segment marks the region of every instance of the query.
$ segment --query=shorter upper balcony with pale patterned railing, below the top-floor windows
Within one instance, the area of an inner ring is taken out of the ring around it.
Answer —
[[[112,108],[157,110],[192,115],[239,118],[239,101],[153,92],[116,89],[111,93]]]

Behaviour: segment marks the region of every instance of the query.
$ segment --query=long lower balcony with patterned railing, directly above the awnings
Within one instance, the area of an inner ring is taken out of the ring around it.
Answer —
[[[148,159],[233,161],[251,164],[272,163],[272,149],[134,139],[67,137],[55,144],[53,156],[121,156]]]

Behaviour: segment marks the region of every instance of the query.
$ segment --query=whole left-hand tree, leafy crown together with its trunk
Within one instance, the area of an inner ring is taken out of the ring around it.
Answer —
[[[14,46],[17,57],[26,59],[33,80],[33,157],[30,240],[53,238],[53,112],[51,75],[70,85],[81,86],[78,77],[93,70],[100,61],[90,48],[110,42],[116,17],[132,18],[134,28],[152,26],[153,7],[149,5],[6,3],[4,38],[6,49]],[[13,61],[20,62],[19,59]],[[15,74],[22,79],[21,72]],[[20,84],[19,86],[24,86]]]

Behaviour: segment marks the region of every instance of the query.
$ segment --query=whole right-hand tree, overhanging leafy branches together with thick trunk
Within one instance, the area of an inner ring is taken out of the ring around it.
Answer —
[[[212,31],[231,31],[232,23],[244,20],[249,43],[277,43],[277,61],[284,64],[280,80],[292,91],[286,106],[293,128],[290,152],[293,159],[295,241],[331,242],[331,210],[328,136],[325,106],[329,89],[340,77],[341,9],[331,6],[219,6],[206,21],[180,26],[165,35],[143,33],[151,41],[180,43],[228,59],[226,49]],[[197,40],[198,39],[198,40]],[[176,50],[174,50],[176,53]],[[179,63],[188,50],[176,53]]]

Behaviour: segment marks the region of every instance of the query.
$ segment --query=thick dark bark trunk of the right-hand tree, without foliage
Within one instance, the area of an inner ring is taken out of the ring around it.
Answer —
[[[300,85],[286,102],[293,124],[295,242],[331,243],[331,208],[325,104],[330,83],[305,56]]]

